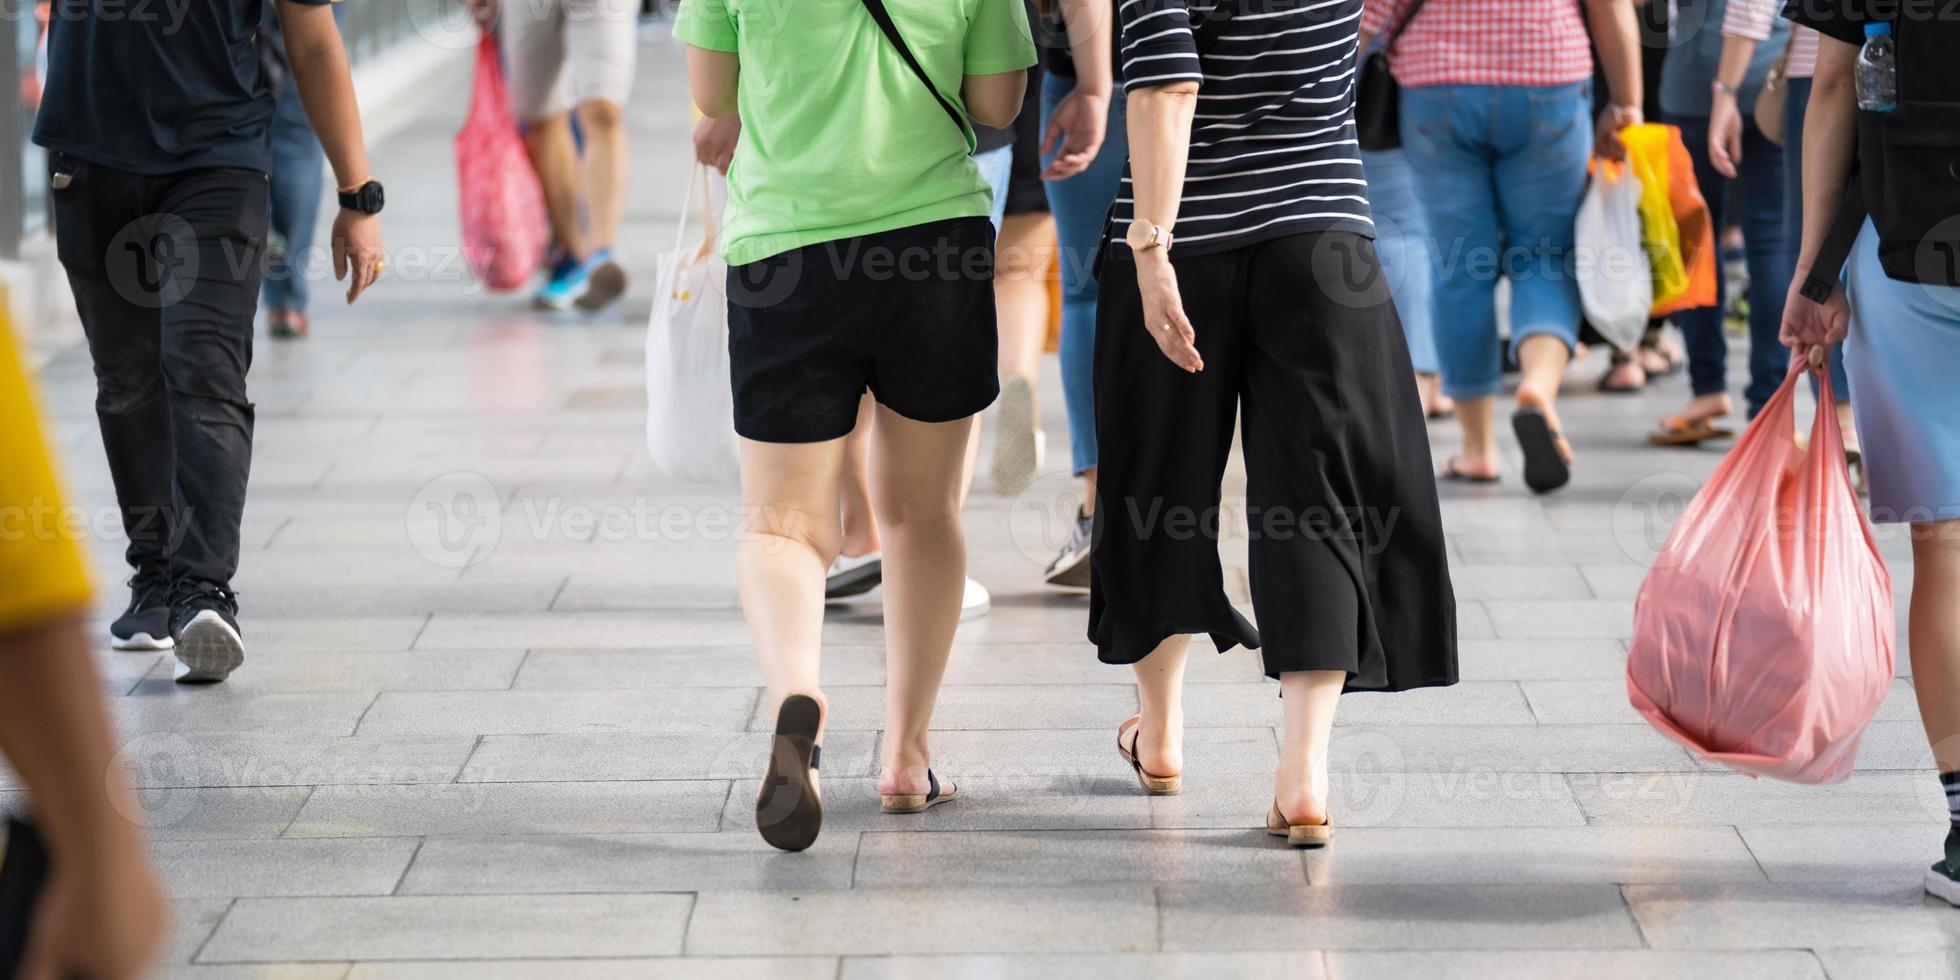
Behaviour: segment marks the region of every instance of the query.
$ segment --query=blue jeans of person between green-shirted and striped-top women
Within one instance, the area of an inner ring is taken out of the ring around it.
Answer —
[[[1041,80],[1041,127],[1047,131],[1054,106],[1076,88],[1074,78],[1047,74]],[[1049,210],[1054,212],[1054,239],[1062,267],[1062,400],[1068,406],[1070,465],[1076,474],[1096,468],[1096,253],[1102,245],[1109,204],[1129,163],[1129,127],[1123,92],[1109,100],[1109,131],[1103,149],[1086,171],[1068,180],[1047,182]],[[1047,167],[1053,155],[1041,159]]]

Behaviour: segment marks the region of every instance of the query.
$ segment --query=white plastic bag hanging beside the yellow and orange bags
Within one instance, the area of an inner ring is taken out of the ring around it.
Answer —
[[[1633,169],[1595,161],[1572,231],[1586,319],[1607,343],[1631,351],[1654,308],[1654,272],[1641,239],[1641,178]]]

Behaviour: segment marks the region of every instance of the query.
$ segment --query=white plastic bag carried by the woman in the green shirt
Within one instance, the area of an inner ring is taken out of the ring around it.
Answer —
[[[696,186],[706,198],[702,241],[686,247]],[[715,253],[725,196],[723,178],[698,167],[680,204],[674,251],[661,257],[647,321],[647,453],[666,476],[739,486],[727,265]]]

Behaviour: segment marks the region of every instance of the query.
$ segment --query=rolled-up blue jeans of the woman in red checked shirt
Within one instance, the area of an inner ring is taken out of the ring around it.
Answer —
[[[1423,174],[1437,261],[1435,323],[1443,392],[1503,388],[1497,276],[1511,280],[1511,345],[1578,343],[1572,220],[1592,155],[1592,82],[1437,84],[1401,90],[1401,145]]]

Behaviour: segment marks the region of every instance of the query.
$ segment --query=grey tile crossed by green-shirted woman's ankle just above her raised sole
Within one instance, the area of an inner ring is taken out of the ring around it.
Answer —
[[[884,684],[884,647],[825,647],[823,684]],[[762,668],[751,647],[531,651],[517,672],[517,690],[757,686]]]

